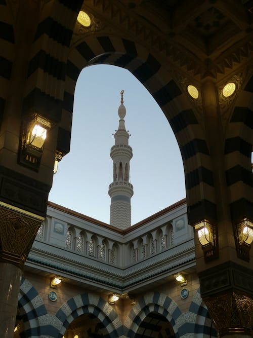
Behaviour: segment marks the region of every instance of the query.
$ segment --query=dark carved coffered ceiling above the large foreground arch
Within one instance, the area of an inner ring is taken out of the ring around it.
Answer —
[[[178,20],[174,18],[177,16],[175,3],[167,2],[164,6],[151,1],[130,4],[88,0],[85,9],[106,22],[113,31],[132,35],[134,41],[138,39],[141,44],[157,50],[168,62],[199,80],[221,79],[250,61],[253,43],[242,6],[226,4],[225,8],[220,8],[218,2],[217,5],[206,2],[199,11],[193,11],[185,4],[185,13]],[[230,12],[232,15],[228,14]],[[241,20],[239,25],[236,13]],[[232,46],[235,47],[230,48]]]

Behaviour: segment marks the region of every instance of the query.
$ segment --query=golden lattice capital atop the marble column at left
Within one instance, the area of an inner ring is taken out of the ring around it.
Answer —
[[[41,217],[36,219],[19,210],[0,207],[0,261],[23,268]]]

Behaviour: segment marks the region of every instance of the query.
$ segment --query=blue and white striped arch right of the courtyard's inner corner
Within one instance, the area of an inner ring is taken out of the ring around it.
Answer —
[[[129,313],[129,319],[125,321],[126,336],[129,338],[141,336],[138,335],[138,329],[148,315],[152,317],[152,313],[164,317],[171,324],[175,337],[180,336],[178,319],[181,316],[181,311],[173,299],[160,292],[150,292],[138,299],[137,304]],[[146,326],[149,330],[148,323]],[[151,331],[153,330],[150,326]]]

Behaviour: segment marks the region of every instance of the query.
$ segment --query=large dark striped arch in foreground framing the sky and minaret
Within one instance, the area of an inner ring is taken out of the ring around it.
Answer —
[[[192,82],[200,89],[198,80],[180,72],[169,52],[167,56],[151,52],[123,32],[119,36],[99,30],[75,41],[76,17],[82,2],[55,0],[50,4],[41,7],[31,47],[23,114],[40,111],[57,123],[56,152],[64,156],[70,149],[74,88],[80,71],[92,64],[130,70],[157,101],[176,135],[184,164],[189,223],[216,219],[212,163],[200,114],[201,91],[197,100],[187,93]]]

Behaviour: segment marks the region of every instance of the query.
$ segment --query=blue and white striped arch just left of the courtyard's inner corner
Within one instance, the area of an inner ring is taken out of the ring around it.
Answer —
[[[83,293],[69,299],[56,314],[58,338],[62,338],[69,324],[83,314],[93,314],[104,326],[103,336],[118,338],[122,335],[122,323],[115,311],[103,298],[93,293]]]

